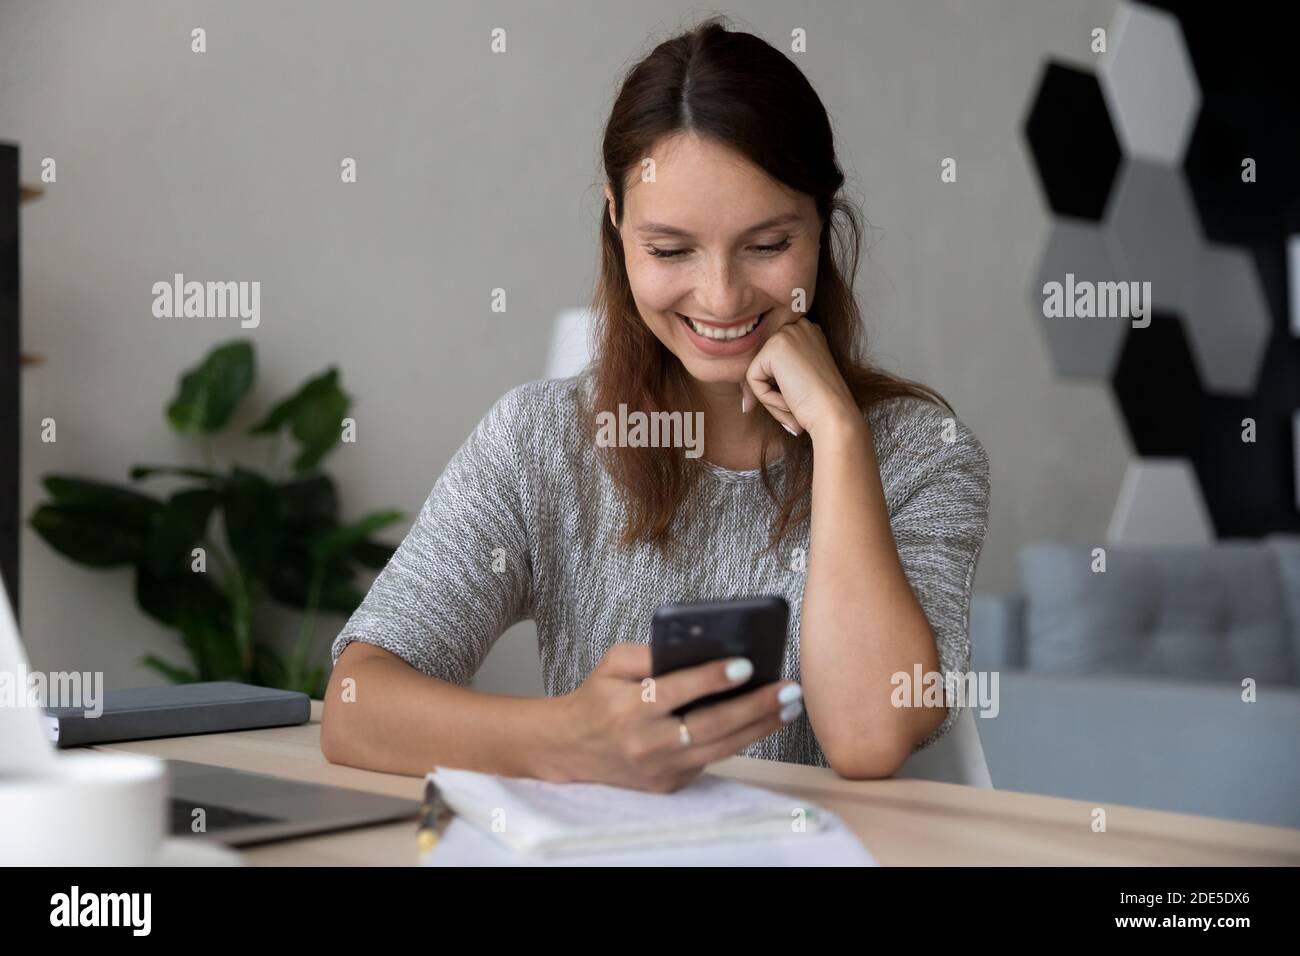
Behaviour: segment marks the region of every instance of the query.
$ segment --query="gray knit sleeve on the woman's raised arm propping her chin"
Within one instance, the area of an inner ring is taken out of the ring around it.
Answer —
[[[935,632],[940,670],[945,678],[966,674],[971,585],[988,529],[988,454],[970,428],[926,399],[904,399],[888,427],[881,471],[898,558]],[[958,717],[949,708],[916,749],[948,734]]]

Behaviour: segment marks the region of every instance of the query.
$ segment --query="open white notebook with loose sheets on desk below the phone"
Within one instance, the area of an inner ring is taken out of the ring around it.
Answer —
[[[850,858],[867,865],[874,862],[852,832],[819,806],[707,774],[673,793],[646,793],[597,783],[547,783],[448,767],[437,767],[429,777],[442,790],[447,804],[474,830],[490,834],[498,847],[528,856],[627,853],[736,843],[760,847],[774,842],[780,842],[786,851],[789,845],[785,844],[792,843],[810,848],[816,843],[824,848],[827,840],[819,838],[828,825],[833,825],[835,842],[852,843],[859,855]],[[473,842],[477,838],[462,832],[459,839]],[[486,842],[477,839],[477,845],[491,855]]]

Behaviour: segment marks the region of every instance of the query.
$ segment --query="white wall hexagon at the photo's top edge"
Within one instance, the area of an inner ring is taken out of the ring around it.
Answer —
[[[1164,10],[1119,4],[1098,73],[1124,153],[1182,165],[1201,90],[1178,21]]]

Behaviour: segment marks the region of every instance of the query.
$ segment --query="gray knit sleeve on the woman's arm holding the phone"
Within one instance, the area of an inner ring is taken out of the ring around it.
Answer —
[[[516,441],[519,389],[452,455],[393,558],[330,648],[352,641],[468,685],[495,640],[532,614],[532,558]]]

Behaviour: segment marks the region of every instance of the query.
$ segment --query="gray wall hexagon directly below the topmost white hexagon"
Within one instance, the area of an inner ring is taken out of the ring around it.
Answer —
[[[1150,282],[1156,308],[1182,312],[1202,246],[1182,170],[1126,159],[1102,229],[1119,278]]]

